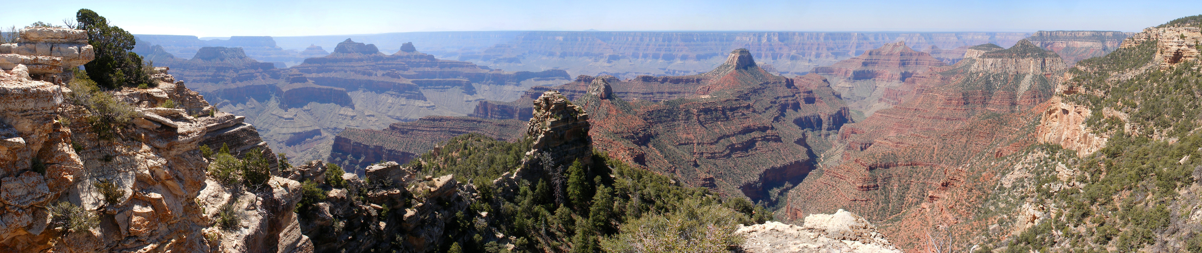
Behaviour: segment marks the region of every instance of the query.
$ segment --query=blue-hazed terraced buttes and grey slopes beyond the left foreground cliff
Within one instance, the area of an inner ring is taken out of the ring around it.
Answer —
[[[350,40],[291,68],[255,61],[240,48],[206,47],[196,55],[163,56],[156,65],[172,67],[221,110],[250,115],[273,147],[299,159],[325,159],[344,128],[468,115],[477,101],[514,100],[530,86],[567,78],[558,70],[504,72],[439,60],[412,44],[386,55]]]

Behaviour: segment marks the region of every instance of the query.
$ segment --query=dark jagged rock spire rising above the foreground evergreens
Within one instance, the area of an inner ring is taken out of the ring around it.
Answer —
[[[543,92],[534,101],[534,116],[525,135],[534,138],[530,155],[555,157],[555,165],[579,161],[591,163],[593,140],[589,137],[589,114],[581,106],[567,101],[559,91]]]

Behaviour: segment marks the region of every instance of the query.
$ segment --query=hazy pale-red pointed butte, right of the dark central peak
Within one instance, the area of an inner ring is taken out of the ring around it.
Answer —
[[[859,56],[815,67],[813,73],[832,82],[847,106],[864,116],[899,101],[882,101],[885,91],[902,85],[908,78],[944,64],[926,52],[915,52],[905,42],[888,43]]]

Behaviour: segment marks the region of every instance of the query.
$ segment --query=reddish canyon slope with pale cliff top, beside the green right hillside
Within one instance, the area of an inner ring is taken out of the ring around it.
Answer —
[[[978,198],[939,200],[966,194],[962,186],[992,182],[968,182],[978,171],[969,173],[966,163],[1007,157],[1035,143],[1030,122],[1065,72],[1059,55],[1027,41],[966,52],[956,65],[914,76],[893,92],[911,98],[844,125],[822,155],[822,175],[793,188],[783,212],[802,218],[846,209],[873,221],[906,213],[882,225],[908,251],[929,246],[920,237],[933,233],[927,229],[963,222],[938,210],[971,206]]]

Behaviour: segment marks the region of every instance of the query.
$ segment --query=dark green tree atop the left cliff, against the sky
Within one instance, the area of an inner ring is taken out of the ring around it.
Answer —
[[[84,64],[88,76],[107,89],[124,85],[150,84],[150,76],[142,67],[142,56],[133,52],[135,38],[130,32],[108,25],[108,20],[96,12],[81,8],[76,12],[78,29],[88,31],[88,44],[96,54],[95,60]]]

